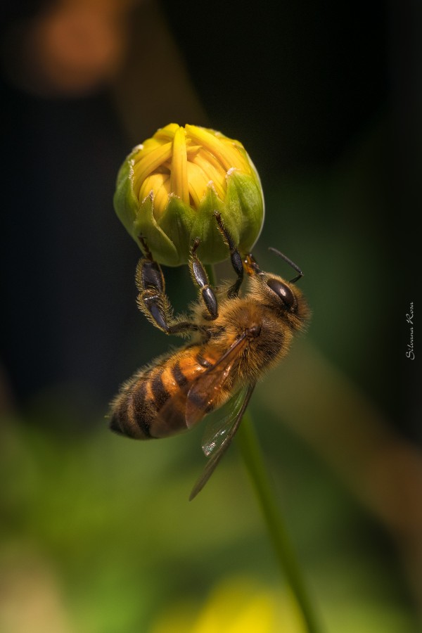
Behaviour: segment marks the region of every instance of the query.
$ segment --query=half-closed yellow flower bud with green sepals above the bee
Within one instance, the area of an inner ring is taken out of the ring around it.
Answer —
[[[226,259],[215,210],[241,252],[250,251],[264,221],[260,178],[243,145],[187,124],[171,123],[133,149],[117,176],[114,205],[136,243],[143,236],[167,266],[186,264],[197,237],[204,263]]]

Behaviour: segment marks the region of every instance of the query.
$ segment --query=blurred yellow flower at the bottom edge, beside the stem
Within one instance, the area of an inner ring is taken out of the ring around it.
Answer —
[[[269,589],[250,577],[226,578],[197,610],[179,603],[148,633],[305,633],[293,595]]]

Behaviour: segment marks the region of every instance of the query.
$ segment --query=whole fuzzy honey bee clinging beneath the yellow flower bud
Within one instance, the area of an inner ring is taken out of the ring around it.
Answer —
[[[286,281],[260,270],[251,254],[241,257],[219,212],[215,219],[230,252],[236,281],[215,290],[191,249],[189,267],[199,287],[190,319],[175,319],[165,295],[160,266],[140,237],[145,257],[136,269],[137,303],[148,319],[167,334],[188,335],[181,349],[140,369],[122,385],[111,404],[110,428],[139,440],[169,437],[195,426],[204,416],[233,401],[226,416],[203,444],[209,460],[190,499],[202,490],[233,439],[257,381],[288,353],[293,335],[305,328],[309,308],[295,282],[302,271],[281,252],[271,249],[298,273]],[[248,290],[239,290],[243,273]]]

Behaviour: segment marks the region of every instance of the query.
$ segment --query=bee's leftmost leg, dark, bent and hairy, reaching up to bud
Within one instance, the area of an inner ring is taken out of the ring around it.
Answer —
[[[166,334],[197,331],[198,326],[191,321],[174,322],[172,306],[165,294],[165,281],[160,264],[153,260],[151,252],[141,236],[139,241],[146,255],[141,257],[136,267],[135,281],[136,288],[139,290],[136,303],[139,309],[153,325]]]

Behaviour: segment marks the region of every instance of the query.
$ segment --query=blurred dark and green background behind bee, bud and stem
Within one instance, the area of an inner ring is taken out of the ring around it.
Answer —
[[[136,310],[112,207],[124,155],[171,121],[243,142],[257,260],[305,272],[309,331],[250,409],[324,630],[421,629],[420,34],[378,0],[1,8],[1,633],[305,630],[236,446],[189,504],[203,429],[107,429],[174,343]],[[188,271],[165,277],[186,309]]]

